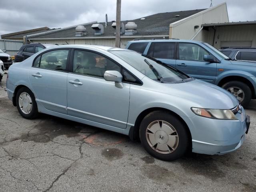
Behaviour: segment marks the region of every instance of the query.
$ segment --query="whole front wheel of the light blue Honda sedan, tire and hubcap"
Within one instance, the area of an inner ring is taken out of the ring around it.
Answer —
[[[188,150],[186,127],[170,112],[154,111],[140,124],[140,140],[146,151],[164,161],[176,160]]]

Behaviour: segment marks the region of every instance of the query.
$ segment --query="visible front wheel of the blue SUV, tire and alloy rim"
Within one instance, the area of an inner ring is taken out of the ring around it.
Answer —
[[[222,86],[222,88],[232,93],[243,107],[248,106],[252,99],[252,91],[249,86],[240,81],[230,81]]]

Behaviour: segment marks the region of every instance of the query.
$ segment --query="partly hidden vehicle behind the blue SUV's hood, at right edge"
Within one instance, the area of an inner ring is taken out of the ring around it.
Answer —
[[[239,47],[222,49],[220,52],[233,60],[256,63],[256,48]]]

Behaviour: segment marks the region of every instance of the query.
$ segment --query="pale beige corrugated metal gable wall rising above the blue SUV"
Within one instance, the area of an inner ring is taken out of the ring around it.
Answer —
[[[200,30],[202,24],[223,22],[228,22],[226,4],[222,4],[212,10],[198,14],[198,16],[191,17],[177,26],[172,27],[171,38],[191,39]],[[199,28],[194,29],[194,26],[199,26]],[[202,41],[203,34],[201,33],[202,32],[198,34],[199,37],[196,36],[197,40]]]

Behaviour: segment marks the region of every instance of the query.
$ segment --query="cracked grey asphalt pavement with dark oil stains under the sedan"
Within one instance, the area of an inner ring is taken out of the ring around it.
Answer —
[[[41,114],[20,116],[0,83],[0,191],[256,191],[256,100],[241,148],[223,156],[152,158],[139,142]]]

